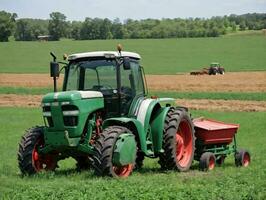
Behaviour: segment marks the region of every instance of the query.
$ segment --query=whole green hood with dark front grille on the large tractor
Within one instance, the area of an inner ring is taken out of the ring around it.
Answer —
[[[49,140],[46,142],[58,145],[58,138],[50,140],[49,137],[59,137],[57,135],[59,132],[62,133],[62,137],[80,137],[87,125],[88,116],[103,108],[103,94],[97,91],[66,91],[46,94],[42,99],[46,139]],[[65,131],[67,131],[67,136],[65,136]],[[70,142],[70,140],[65,142]]]

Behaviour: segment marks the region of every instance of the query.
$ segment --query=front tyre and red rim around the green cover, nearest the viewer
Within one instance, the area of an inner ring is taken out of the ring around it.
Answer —
[[[134,169],[135,162],[124,166],[113,163],[113,154],[119,135],[131,133],[127,128],[121,126],[110,126],[106,128],[96,140],[94,155],[94,168],[97,175],[111,177],[128,177]],[[136,155],[134,155],[136,158]]]

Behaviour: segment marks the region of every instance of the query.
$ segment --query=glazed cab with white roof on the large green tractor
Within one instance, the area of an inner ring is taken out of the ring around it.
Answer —
[[[140,56],[131,52],[99,51],[68,57],[63,91],[97,91],[104,97],[108,118],[126,116],[134,99],[145,96]]]

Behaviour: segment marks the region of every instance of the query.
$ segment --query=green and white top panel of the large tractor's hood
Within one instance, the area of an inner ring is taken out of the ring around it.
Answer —
[[[46,94],[42,103],[49,102],[63,102],[63,101],[75,101],[81,99],[93,99],[103,98],[103,94],[98,91],[66,91],[66,92],[53,92]]]

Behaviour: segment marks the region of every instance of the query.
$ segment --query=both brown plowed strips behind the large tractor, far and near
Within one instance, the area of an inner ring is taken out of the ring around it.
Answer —
[[[150,90],[202,92],[266,92],[266,72],[232,72],[217,76],[147,75]],[[62,84],[62,76],[59,84]],[[47,74],[0,74],[0,86],[50,87]],[[0,94],[0,106],[38,107],[41,95]],[[190,109],[220,111],[266,111],[265,101],[178,99]]]

